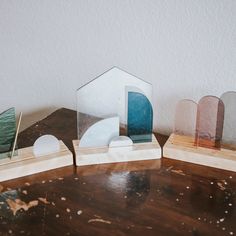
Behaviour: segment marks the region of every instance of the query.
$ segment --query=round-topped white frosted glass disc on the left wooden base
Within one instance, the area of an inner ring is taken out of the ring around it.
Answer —
[[[43,135],[39,137],[33,146],[33,153],[36,157],[57,153],[59,151],[59,140],[53,135]]]

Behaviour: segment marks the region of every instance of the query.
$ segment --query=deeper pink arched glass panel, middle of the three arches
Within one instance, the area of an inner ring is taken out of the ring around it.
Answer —
[[[214,96],[205,96],[198,103],[195,144],[220,148],[223,133],[224,104]]]

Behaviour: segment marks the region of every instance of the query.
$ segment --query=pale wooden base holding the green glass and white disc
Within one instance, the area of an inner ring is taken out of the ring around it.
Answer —
[[[60,141],[60,152],[35,157],[33,147],[18,149],[18,156],[0,160],[0,181],[73,165],[73,156]]]

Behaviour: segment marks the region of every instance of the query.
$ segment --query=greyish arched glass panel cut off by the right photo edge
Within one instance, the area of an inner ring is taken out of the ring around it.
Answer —
[[[226,92],[221,96],[225,106],[222,145],[236,150],[236,92]]]

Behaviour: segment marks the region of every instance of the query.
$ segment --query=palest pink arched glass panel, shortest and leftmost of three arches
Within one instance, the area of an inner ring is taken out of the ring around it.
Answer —
[[[197,103],[192,100],[181,100],[175,110],[174,133],[193,136],[196,132]]]

